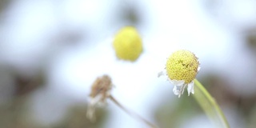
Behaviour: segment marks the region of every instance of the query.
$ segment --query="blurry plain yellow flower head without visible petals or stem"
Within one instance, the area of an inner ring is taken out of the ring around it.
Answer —
[[[132,26],[122,28],[114,38],[114,50],[118,58],[134,62],[142,53],[142,39]]]

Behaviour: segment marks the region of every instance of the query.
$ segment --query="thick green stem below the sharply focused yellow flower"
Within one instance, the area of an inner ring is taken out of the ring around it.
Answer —
[[[198,104],[205,111],[206,115],[218,126],[222,128],[230,128],[225,115],[218,106],[218,103],[209,94],[209,92],[202,86],[197,79],[194,79],[195,90],[194,98]]]

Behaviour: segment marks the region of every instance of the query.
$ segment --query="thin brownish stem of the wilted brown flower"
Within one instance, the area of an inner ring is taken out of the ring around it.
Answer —
[[[157,126],[154,126],[153,123],[146,121],[146,119],[142,118],[140,115],[134,113],[133,111],[126,109],[126,107],[122,106],[122,104],[119,103],[112,95],[110,95],[109,98],[112,102],[114,102],[117,106],[119,106],[122,110],[124,110],[131,117],[137,118],[138,120],[144,122],[147,126],[150,126],[151,128],[157,128]]]

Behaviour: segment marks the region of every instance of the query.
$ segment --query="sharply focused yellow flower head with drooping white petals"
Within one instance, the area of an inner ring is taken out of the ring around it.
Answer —
[[[165,73],[174,85],[173,91],[178,98],[183,94],[186,86],[188,95],[194,94],[194,78],[199,69],[198,58],[189,50],[178,50],[167,59]],[[158,76],[162,74],[164,73]]]

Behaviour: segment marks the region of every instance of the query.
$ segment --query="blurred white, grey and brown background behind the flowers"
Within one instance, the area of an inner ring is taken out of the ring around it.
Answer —
[[[123,26],[142,36],[136,62],[114,54]],[[108,74],[114,98],[159,127],[212,128],[193,97],[157,77],[179,49],[199,58],[197,78],[230,127],[254,127],[256,1],[1,0],[0,127],[147,127],[110,101],[86,118],[90,86]]]

